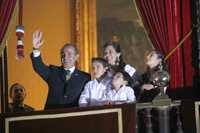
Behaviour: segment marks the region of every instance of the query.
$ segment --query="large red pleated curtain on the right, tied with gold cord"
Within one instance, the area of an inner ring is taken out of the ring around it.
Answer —
[[[154,47],[167,55],[191,30],[190,0],[136,0]],[[192,86],[191,38],[167,60],[170,88]]]

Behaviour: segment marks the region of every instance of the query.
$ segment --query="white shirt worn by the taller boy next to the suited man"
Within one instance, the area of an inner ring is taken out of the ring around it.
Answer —
[[[79,106],[102,105],[105,90],[110,88],[111,78],[106,77],[101,82],[96,79],[89,81],[81,93]]]

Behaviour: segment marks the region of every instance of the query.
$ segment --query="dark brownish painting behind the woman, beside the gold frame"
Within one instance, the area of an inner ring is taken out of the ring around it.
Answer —
[[[97,0],[98,55],[103,54],[103,45],[119,40],[126,63],[144,72],[144,53],[153,48],[149,41],[134,0]]]

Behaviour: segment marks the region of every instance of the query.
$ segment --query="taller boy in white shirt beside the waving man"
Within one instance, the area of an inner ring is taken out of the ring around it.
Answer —
[[[111,86],[111,77],[107,76],[108,64],[103,58],[92,59],[92,75],[79,98],[79,106],[102,105],[105,90]]]

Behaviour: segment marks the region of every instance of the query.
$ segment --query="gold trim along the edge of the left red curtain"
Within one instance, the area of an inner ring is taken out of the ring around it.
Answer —
[[[16,19],[17,19],[17,16],[18,16],[18,12],[19,12],[19,0],[16,1],[15,8],[13,10],[10,22],[8,24],[8,28],[6,30],[5,36],[4,36],[3,40],[2,40],[2,42],[0,43],[0,52],[1,52],[0,56],[2,56],[2,53],[3,53],[4,48],[6,46],[6,42],[10,37],[11,28],[16,22]]]

